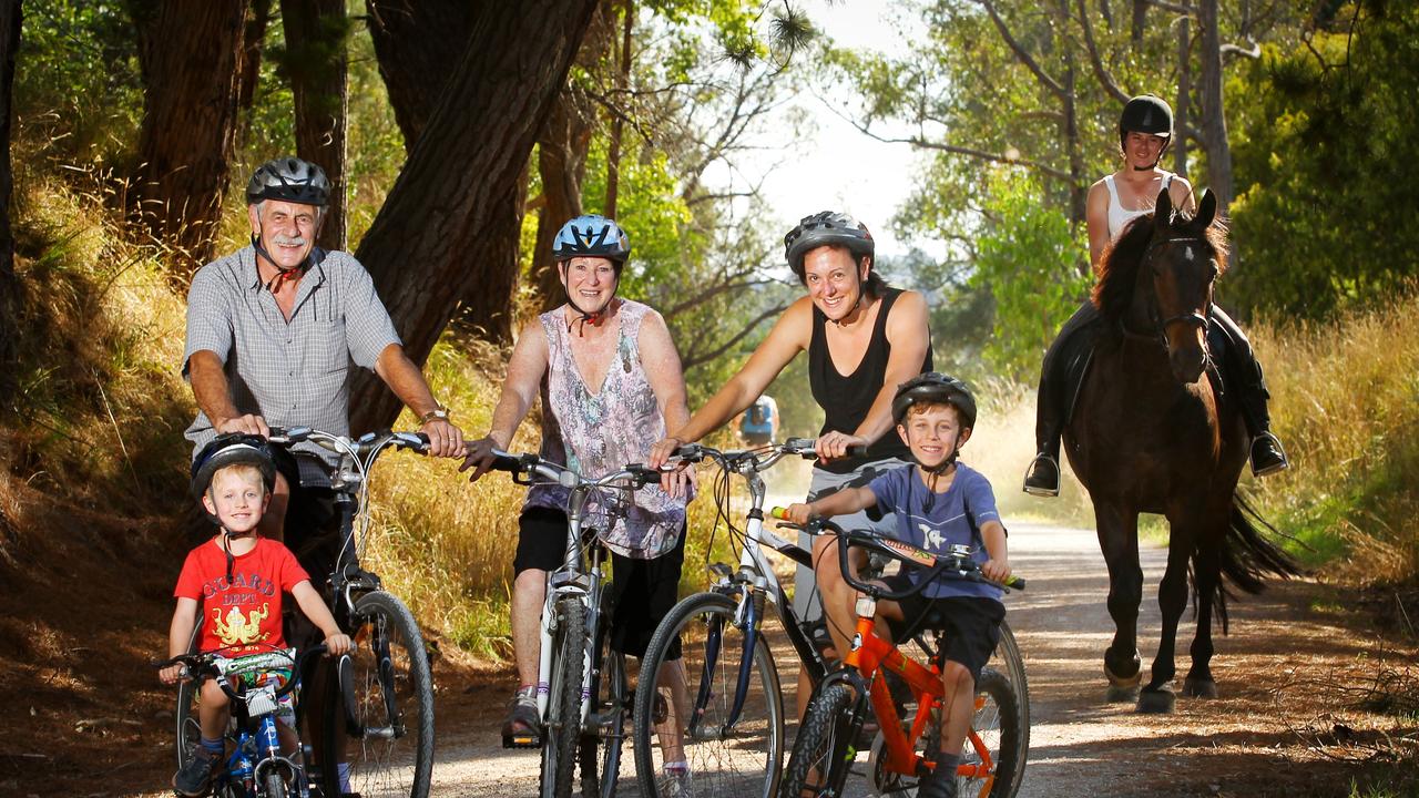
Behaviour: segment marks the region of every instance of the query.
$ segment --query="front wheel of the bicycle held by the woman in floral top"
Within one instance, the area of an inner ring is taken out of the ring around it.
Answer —
[[[542,798],[572,794],[572,765],[582,726],[582,677],[586,666],[586,608],[576,596],[558,599],[552,635],[552,684],[542,731]]]

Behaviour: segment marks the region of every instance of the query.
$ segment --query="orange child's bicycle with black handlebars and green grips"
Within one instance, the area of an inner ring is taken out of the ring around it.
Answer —
[[[775,510],[775,517],[780,517],[780,513]],[[868,782],[881,795],[914,795],[918,780],[934,767],[924,754],[934,754],[938,748],[941,667],[931,652],[928,667],[877,636],[873,622],[877,602],[908,598],[939,575],[988,582],[1002,589],[1023,589],[1025,579],[1012,576],[1007,585],[986,579],[979,565],[971,559],[969,547],[951,547],[942,555],[871,531],[847,531],[826,520],[780,525],[810,534],[837,535],[843,578],[866,595],[857,599],[857,629],[844,667],[819,682],[809,700],[807,714],[793,741],[793,753],[779,785],[779,798],[843,795],[843,785],[857,754],[853,744],[868,713],[876,714],[881,728],[868,760]],[[931,571],[915,585],[893,592],[853,575],[849,568],[849,550],[853,547],[897,559],[904,567]],[[931,628],[929,616],[920,626]],[[884,680],[884,669],[900,674],[910,686],[915,704],[911,717],[898,716]],[[989,666],[982,669],[976,682],[975,716],[956,767],[958,795],[1013,798],[1027,754],[1026,730],[1020,727],[1019,717],[1017,699],[1009,680]]]

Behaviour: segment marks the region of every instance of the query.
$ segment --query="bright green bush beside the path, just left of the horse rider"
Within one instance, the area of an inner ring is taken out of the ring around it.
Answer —
[[[1088,291],[1078,268],[1084,241],[1069,219],[1040,202],[1040,189],[1019,169],[992,170],[990,200],[976,237],[971,284],[995,297],[986,365],[1000,376],[1030,379],[1060,325]]]

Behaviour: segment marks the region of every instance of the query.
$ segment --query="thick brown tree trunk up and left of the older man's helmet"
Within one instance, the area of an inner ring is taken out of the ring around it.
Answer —
[[[132,212],[173,248],[179,281],[211,257],[236,148],[247,0],[162,4],[150,53]]]

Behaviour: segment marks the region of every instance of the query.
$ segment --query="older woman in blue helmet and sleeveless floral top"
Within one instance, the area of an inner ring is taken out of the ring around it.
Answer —
[[[685,381],[670,329],[658,312],[616,297],[630,240],[602,216],[572,219],[552,246],[566,302],[529,324],[508,361],[502,396],[488,434],[473,443],[463,469],[470,479],[487,473],[492,450],[507,450],[512,433],[541,390],[541,457],[596,479],[647,459],[667,423],[688,420]],[[650,638],[678,599],[685,555],[685,503],[690,474],[666,474],[661,484],[630,493],[624,517],[606,523],[604,505],[587,501],[587,525],[602,530],[612,552],[612,647],[643,657]],[[548,572],[562,567],[566,551],[566,503],[561,486],[535,484],[518,518],[512,562],[512,650],[518,690],[502,724],[504,740],[536,736],[539,625]],[[623,601],[629,596],[629,601]],[[660,679],[684,690],[678,643]],[[680,730],[667,751],[666,771],[688,781],[690,765],[674,757]]]

